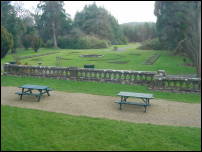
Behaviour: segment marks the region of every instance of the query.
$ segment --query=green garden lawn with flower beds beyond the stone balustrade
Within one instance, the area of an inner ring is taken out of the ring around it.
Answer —
[[[38,53],[33,50],[18,49],[17,55],[27,56],[35,54],[45,54],[47,52],[59,52],[47,56],[22,59],[22,64],[38,65],[42,62],[44,66],[55,66],[56,57],[61,56],[68,60],[61,60],[59,66],[77,66],[83,68],[84,64],[94,64],[97,69],[117,69],[117,70],[139,70],[139,71],[157,71],[165,70],[168,74],[195,74],[194,67],[184,66],[183,57],[173,56],[169,51],[138,50],[139,44],[131,43],[129,45],[117,45],[119,48],[125,48],[125,51],[113,51],[113,46],[106,49],[47,49],[41,48]],[[72,53],[79,52],[79,53]],[[153,54],[160,54],[160,58],[153,65],[143,64]],[[80,57],[83,54],[101,54],[103,57]],[[1,64],[12,61],[11,55],[7,55],[1,60]],[[188,59],[187,59],[188,60]],[[112,63],[114,62],[114,63]],[[122,62],[126,64],[117,64]],[[188,60],[188,62],[190,62]]]

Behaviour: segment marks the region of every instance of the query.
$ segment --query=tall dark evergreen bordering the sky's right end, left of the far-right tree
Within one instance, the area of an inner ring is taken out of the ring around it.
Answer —
[[[157,16],[156,28],[163,49],[175,50],[178,42],[184,39],[188,27],[186,14],[190,2],[156,1],[154,14]]]

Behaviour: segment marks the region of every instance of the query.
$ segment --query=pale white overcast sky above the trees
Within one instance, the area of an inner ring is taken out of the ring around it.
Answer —
[[[119,24],[156,22],[154,1],[64,1],[64,9],[74,19],[76,12],[82,11],[85,5],[93,2],[110,12],[118,20]],[[23,8],[34,12],[39,1],[20,1],[20,3]]]

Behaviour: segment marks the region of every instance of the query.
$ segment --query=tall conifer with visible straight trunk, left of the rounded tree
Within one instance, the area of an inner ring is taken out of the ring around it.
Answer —
[[[57,48],[57,37],[69,25],[69,15],[63,9],[63,1],[41,1],[38,8],[42,14],[35,16],[37,27],[41,36],[47,41],[53,40],[54,47]]]

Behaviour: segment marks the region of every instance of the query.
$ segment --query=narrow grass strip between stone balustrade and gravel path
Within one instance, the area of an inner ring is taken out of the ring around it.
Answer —
[[[21,86],[24,84],[47,85],[54,90],[81,92],[96,95],[116,96],[120,91],[153,93],[155,98],[173,100],[187,103],[200,103],[201,96],[194,93],[171,93],[148,90],[146,86],[85,82],[71,80],[57,80],[49,78],[2,76],[1,86]]]

